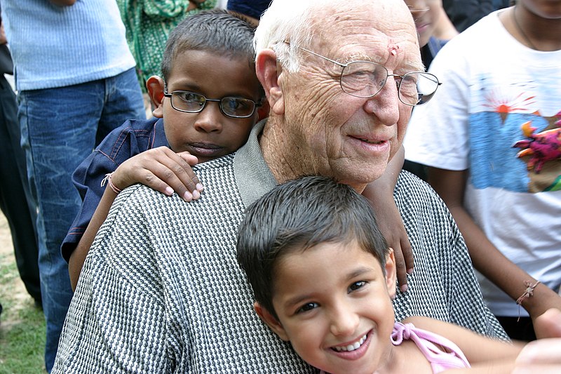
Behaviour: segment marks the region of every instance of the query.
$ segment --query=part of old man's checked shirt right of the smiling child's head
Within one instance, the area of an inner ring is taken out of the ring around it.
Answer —
[[[393,302],[396,320],[421,315],[508,340],[483,302],[464,238],[445,203],[416,176],[402,171],[394,191],[414,252],[409,291]]]

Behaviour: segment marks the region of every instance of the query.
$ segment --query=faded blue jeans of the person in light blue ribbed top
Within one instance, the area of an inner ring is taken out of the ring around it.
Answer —
[[[68,266],[60,254],[81,205],[72,173],[111,130],[127,119],[144,119],[146,114],[134,69],[74,86],[21,91],[18,102],[27,175],[39,213],[45,365],[50,373],[72,299]]]

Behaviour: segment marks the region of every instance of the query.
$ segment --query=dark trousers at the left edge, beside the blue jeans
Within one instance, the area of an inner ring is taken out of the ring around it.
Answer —
[[[0,208],[10,226],[20,277],[29,295],[41,305],[36,208],[29,192],[20,138],[15,93],[0,74]]]

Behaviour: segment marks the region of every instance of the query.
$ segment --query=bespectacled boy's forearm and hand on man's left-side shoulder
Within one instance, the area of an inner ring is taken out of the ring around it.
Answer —
[[[191,166],[196,163],[196,157],[188,152],[176,154],[168,147],[149,149],[121,163],[111,174],[111,183],[117,189],[142,183],[168,196],[175,191],[185,201],[191,201],[198,199],[203,191],[201,182],[191,169]],[[93,239],[107,218],[116,196],[116,192],[107,186],[86,231],[70,255],[68,271],[73,290],[78,284],[83,262],[90,251]]]

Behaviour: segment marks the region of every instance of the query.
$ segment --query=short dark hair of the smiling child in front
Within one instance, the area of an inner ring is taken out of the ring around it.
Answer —
[[[368,200],[326,177],[303,177],[272,189],[246,211],[238,230],[238,263],[255,300],[276,318],[273,278],[279,258],[320,243],[356,241],[386,264],[388,245]]]

